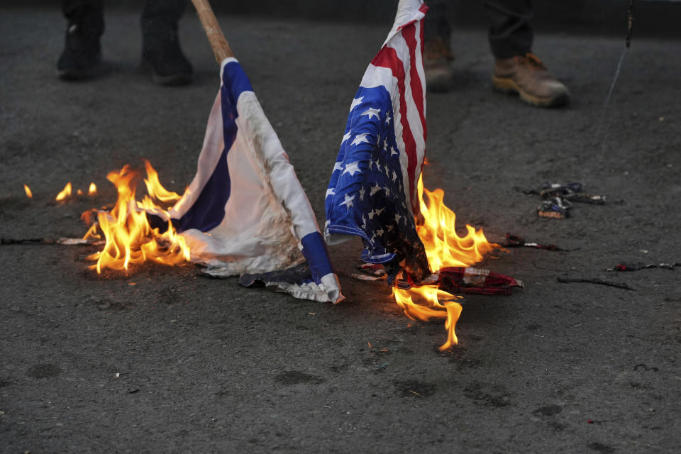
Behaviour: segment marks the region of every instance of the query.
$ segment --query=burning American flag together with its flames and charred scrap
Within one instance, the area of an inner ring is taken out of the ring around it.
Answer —
[[[497,285],[497,280],[506,292],[509,282],[469,268],[494,245],[471,226],[466,226],[465,236],[458,236],[443,191],[423,188],[422,19],[427,10],[421,0],[399,1],[392,30],[350,104],[326,191],[325,234],[330,244],[349,236],[362,238],[362,260],[386,267],[394,298],[408,316],[446,319],[444,350],[457,343],[454,327],[461,312],[455,302],[459,297],[450,292]],[[412,297],[424,301],[416,303]]]

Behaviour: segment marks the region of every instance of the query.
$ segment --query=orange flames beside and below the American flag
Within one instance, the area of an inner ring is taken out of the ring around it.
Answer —
[[[466,225],[467,234],[458,236],[455,230],[456,214],[445,206],[444,192],[436,189],[433,192],[423,188],[423,174],[418,184],[419,205],[423,223],[416,226],[419,238],[426,248],[426,257],[431,270],[438,271],[443,267],[469,267],[480,262],[483,256],[496,247],[487,241],[485,234]],[[423,199],[423,192],[428,203]],[[438,289],[436,284],[425,284],[409,290],[393,289],[397,304],[411,319],[427,321],[433,318],[446,319],[447,341],[440,350],[447,350],[458,343],[454,328],[461,314],[462,307],[455,300],[455,295]],[[427,305],[416,304],[412,297],[425,300]]]

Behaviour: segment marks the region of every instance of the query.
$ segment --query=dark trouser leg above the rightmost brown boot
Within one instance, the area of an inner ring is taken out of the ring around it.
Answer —
[[[530,0],[483,0],[489,16],[489,47],[497,58],[525,55],[532,51]]]

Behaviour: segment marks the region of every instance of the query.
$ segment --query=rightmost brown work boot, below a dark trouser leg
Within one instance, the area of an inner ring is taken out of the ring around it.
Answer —
[[[558,107],[570,101],[567,87],[531,53],[497,59],[492,85],[499,92],[519,94],[520,99],[533,106]]]

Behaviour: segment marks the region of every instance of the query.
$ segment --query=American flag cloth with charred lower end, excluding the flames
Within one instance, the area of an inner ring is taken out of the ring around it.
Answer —
[[[400,0],[392,30],[350,104],[326,191],[327,242],[360,236],[362,260],[383,263],[388,282],[401,275],[406,287],[431,273],[416,233],[426,153],[421,21],[427,10],[421,0]]]

